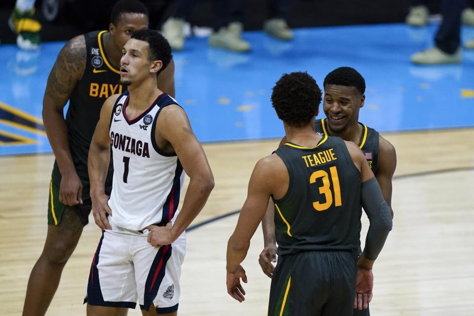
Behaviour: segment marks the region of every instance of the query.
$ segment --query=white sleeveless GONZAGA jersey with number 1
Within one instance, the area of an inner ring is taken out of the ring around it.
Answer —
[[[174,216],[183,190],[183,167],[176,154],[163,153],[155,140],[158,115],[177,104],[162,93],[144,113],[127,118],[129,91],[115,103],[110,120],[114,178],[109,206],[115,225],[139,231],[148,225],[166,225]]]

